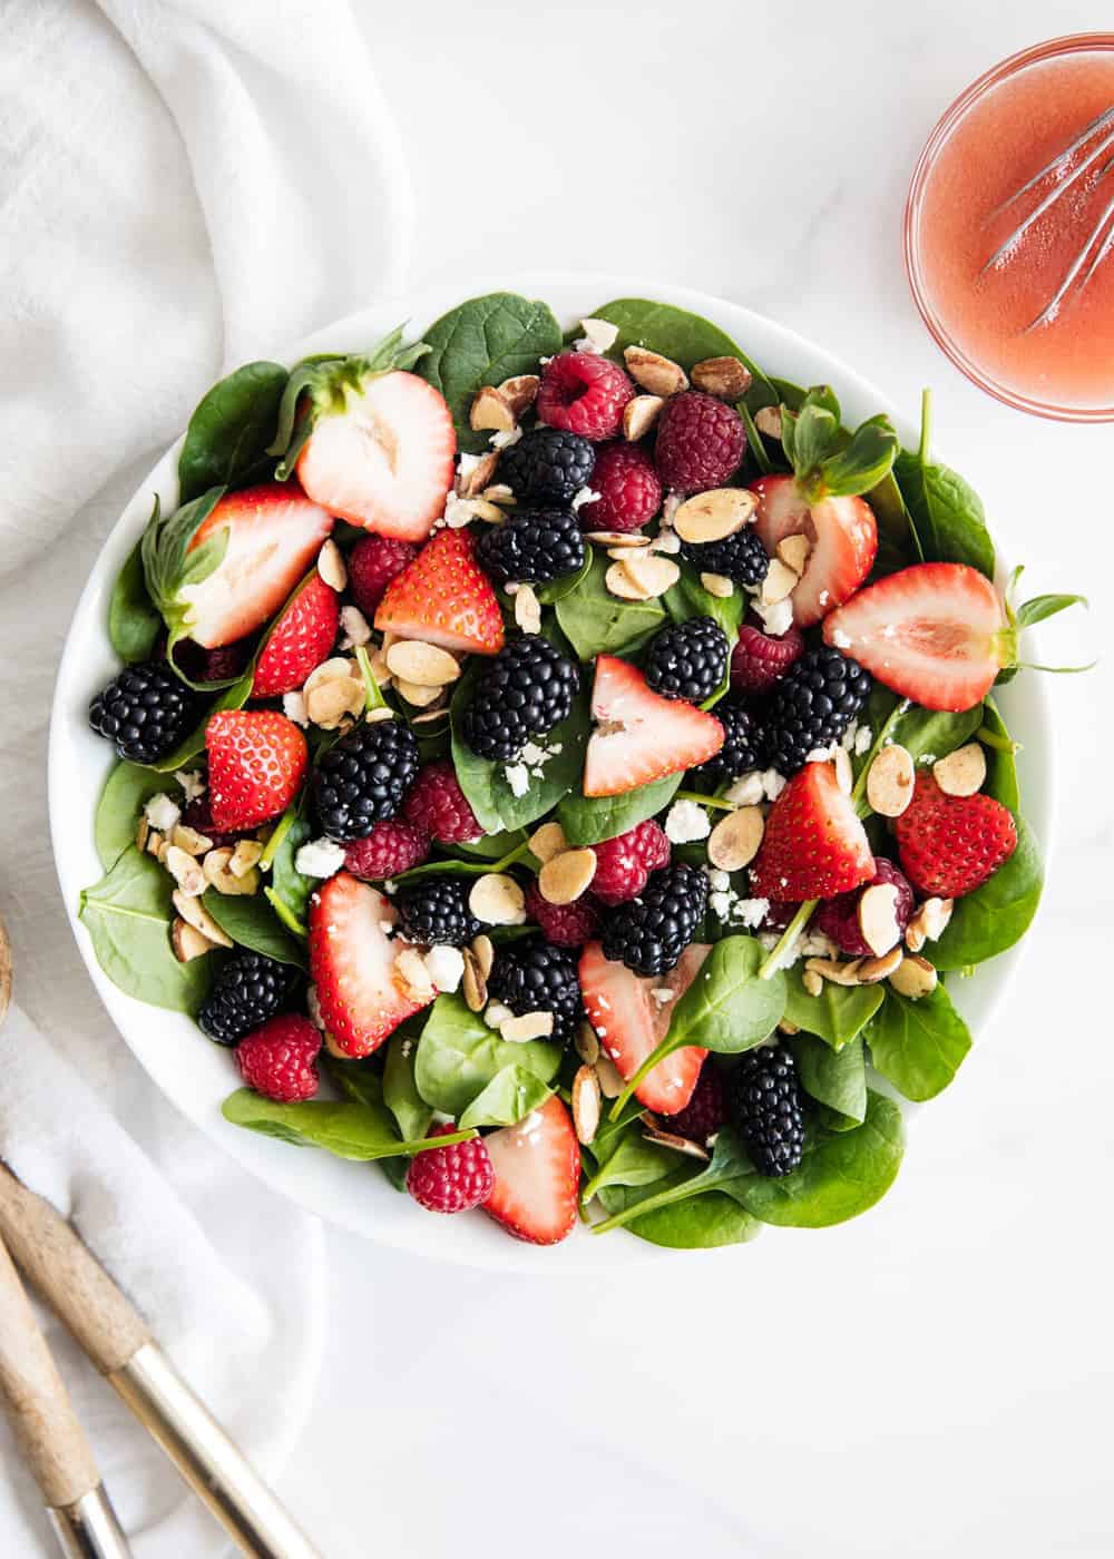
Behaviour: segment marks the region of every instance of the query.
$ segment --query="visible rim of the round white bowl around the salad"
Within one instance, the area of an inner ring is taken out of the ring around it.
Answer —
[[[878,390],[793,331],[721,298],[630,278],[540,273],[438,287],[412,298],[379,302],[340,320],[301,341],[287,359],[296,362],[307,352],[325,349],[359,351],[406,318],[417,335],[462,299],[496,287],[545,298],[566,324],[610,298],[654,298],[691,309],[721,326],[766,371],[804,385],[832,384],[852,426],[875,412],[889,412],[903,441],[916,444],[908,418],[900,416]],[[179,443],[167,451],[134,494],[89,575],[66,641],[50,725],[50,828],[58,876],[81,956],[112,1021],[167,1098],[208,1132],[215,1144],[276,1191],[354,1233],[440,1260],[534,1272],[552,1271],[554,1266],[566,1271],[608,1267],[665,1255],[624,1233],[596,1238],[585,1230],[576,1230],[552,1250],[538,1250],[510,1239],[482,1213],[452,1219],[423,1213],[409,1197],[392,1190],[371,1165],[345,1163],[315,1149],[295,1149],[229,1126],[220,1113],[222,1101],[239,1084],[229,1052],[206,1043],[189,1018],[125,996],[101,973],[76,909],[81,889],[101,876],[92,825],[100,789],[112,767],[112,751],[89,730],[86,711],[92,692],[119,666],[106,628],[112,582],[144,529],[153,496],[161,494],[164,513],[176,504]],[[1002,705],[1011,731],[1024,742],[1020,780],[1025,811],[1047,848],[1052,753],[1047,705],[1039,681],[1024,677],[1011,683],[1002,691]],[[1017,949],[1013,949],[980,968],[972,979],[955,982],[956,1001],[978,1038],[986,1037],[991,1013],[1017,956]],[[961,1088],[963,1077],[953,1087]],[[903,1108],[910,1112],[910,1105]],[[777,1238],[777,1233],[771,1238]],[[679,1255],[693,1258],[693,1252]],[[719,1258],[724,1258],[724,1252],[719,1252]],[[747,1252],[746,1260],[754,1261],[754,1253]]]

